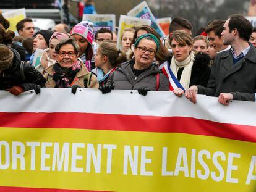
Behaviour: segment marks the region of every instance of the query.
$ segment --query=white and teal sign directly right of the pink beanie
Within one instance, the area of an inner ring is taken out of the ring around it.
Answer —
[[[116,31],[116,15],[83,14],[83,20],[88,20],[93,23],[94,34],[100,28],[107,28],[108,30]]]

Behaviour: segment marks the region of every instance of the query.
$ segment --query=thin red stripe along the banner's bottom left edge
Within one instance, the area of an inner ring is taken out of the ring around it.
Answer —
[[[107,191],[87,191],[87,190],[61,190],[61,189],[47,189],[47,188],[27,188],[14,186],[0,186],[0,192],[107,192]]]

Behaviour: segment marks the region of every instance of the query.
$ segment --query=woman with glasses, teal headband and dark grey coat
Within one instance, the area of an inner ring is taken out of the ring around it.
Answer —
[[[160,43],[152,34],[139,36],[134,44],[134,58],[111,73],[106,85],[99,88],[102,93],[109,93],[113,88],[138,90],[144,96],[148,91],[168,91],[168,78],[153,64]]]

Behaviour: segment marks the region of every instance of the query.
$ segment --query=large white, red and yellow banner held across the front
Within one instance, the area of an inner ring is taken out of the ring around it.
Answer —
[[[255,191],[255,102],[0,91],[0,191]]]

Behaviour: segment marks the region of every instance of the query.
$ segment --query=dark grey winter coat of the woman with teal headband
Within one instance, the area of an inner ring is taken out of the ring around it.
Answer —
[[[135,77],[133,65],[134,59],[121,64],[109,75],[108,83],[113,85],[115,90],[137,90],[145,86],[151,91],[156,91],[156,74],[159,73],[158,91],[169,91],[169,80],[157,66],[152,64],[145,72]]]

